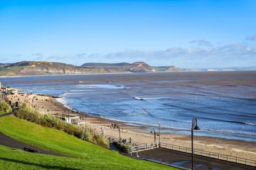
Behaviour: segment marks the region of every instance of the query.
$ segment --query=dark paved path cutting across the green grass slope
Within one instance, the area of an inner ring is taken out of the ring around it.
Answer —
[[[63,155],[60,155],[58,153],[48,152],[46,150],[36,148],[35,146],[31,146],[31,145],[28,145],[26,143],[22,143],[20,141],[17,141],[13,138],[10,138],[10,137],[4,135],[1,132],[0,132],[0,145],[8,146],[10,148],[17,148],[17,149],[20,149],[20,150],[23,150],[23,148],[29,148],[29,149],[32,149],[32,150],[36,150],[38,153],[44,153],[44,154],[56,155],[56,156],[63,156]]]

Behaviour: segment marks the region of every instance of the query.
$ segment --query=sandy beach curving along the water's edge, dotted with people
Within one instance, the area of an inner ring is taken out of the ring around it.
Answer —
[[[124,122],[117,122],[113,120],[108,120],[106,118],[92,117],[86,113],[78,113],[76,111],[69,110],[62,104],[58,103],[56,97],[52,96],[41,96],[36,94],[14,94],[7,96],[8,101],[15,103],[19,101],[20,103],[29,103],[36,110],[40,111],[42,114],[46,113],[68,113],[70,115],[79,115],[80,118],[86,120],[86,124],[95,127],[95,129],[104,129],[104,134],[108,136],[113,136],[115,138],[119,137],[118,129],[113,129],[111,124],[118,124],[121,131],[121,138],[129,139],[138,143],[153,143],[154,133],[148,131],[148,127],[136,127],[132,125],[126,125]],[[157,128],[155,128],[158,131]],[[147,132],[148,131],[148,132]],[[159,138],[156,138],[156,142]],[[161,142],[168,143],[172,145],[179,145],[184,147],[191,147],[191,136],[177,135],[177,134],[162,134]],[[256,143],[248,141],[240,141],[225,138],[212,138],[207,136],[196,136],[194,138],[194,147],[196,149],[222,153],[225,155],[232,155],[235,157],[241,157],[244,159],[256,159]]]

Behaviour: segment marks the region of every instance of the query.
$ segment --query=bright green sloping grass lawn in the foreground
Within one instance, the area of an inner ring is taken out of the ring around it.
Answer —
[[[0,146],[0,169],[174,169],[131,159],[65,132],[13,116],[0,118],[0,132],[18,141],[67,156],[28,153]]]

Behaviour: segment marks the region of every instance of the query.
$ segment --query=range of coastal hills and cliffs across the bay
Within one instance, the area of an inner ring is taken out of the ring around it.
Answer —
[[[61,62],[22,61],[15,63],[0,63],[0,76],[32,76],[54,74],[90,74],[90,73],[144,73],[155,71],[181,71],[180,68],[153,67],[145,62],[86,63],[74,66]]]

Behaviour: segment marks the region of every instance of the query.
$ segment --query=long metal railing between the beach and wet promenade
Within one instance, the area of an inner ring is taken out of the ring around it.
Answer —
[[[178,145],[172,145],[172,144],[168,144],[168,143],[160,143],[159,148],[166,148],[166,149],[170,149],[170,150],[177,150],[179,152],[191,153],[191,148],[187,148],[184,146],[178,146]],[[225,160],[228,162],[236,162],[238,164],[245,164],[248,166],[256,166],[256,160],[244,159],[241,157],[234,157],[234,156],[225,155],[222,153],[215,153],[215,152],[209,152],[209,151],[205,151],[205,150],[194,149],[194,154],[201,155],[204,157],[219,159],[219,160]]]

